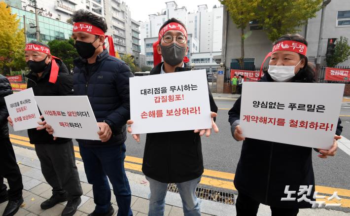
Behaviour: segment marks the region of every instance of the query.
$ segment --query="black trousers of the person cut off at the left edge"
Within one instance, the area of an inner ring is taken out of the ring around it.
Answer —
[[[3,178],[7,179],[9,190],[6,190]],[[18,200],[22,196],[22,189],[22,175],[10,139],[0,138],[0,197],[7,194],[9,200]]]

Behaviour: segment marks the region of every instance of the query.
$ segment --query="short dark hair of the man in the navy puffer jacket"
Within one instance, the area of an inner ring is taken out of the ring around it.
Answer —
[[[88,10],[80,9],[75,11],[72,17],[72,21],[74,23],[77,23],[77,22],[89,23],[91,25],[99,27],[100,29],[102,29],[102,31],[104,31],[104,33],[107,32],[107,29],[108,29],[107,23],[105,22],[104,17],[97,16]]]

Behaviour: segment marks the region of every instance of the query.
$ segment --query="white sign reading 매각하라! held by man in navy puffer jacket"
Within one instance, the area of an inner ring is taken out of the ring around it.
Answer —
[[[100,130],[87,96],[35,96],[54,137],[100,140]]]

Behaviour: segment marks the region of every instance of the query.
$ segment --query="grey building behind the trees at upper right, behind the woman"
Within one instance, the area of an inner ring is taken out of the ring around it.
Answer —
[[[324,26],[321,41],[321,66],[326,65],[326,50],[329,38],[339,38],[346,36],[350,38],[350,1],[331,1],[324,11]],[[316,17],[309,19],[306,26],[301,28],[300,35],[308,41],[307,57],[310,63],[315,64],[318,48],[318,37],[320,30],[321,11],[316,13]],[[238,59],[241,57],[241,31],[232,22],[230,15],[226,11],[223,18],[223,43],[222,60],[227,68],[237,67]],[[260,67],[267,53],[272,50],[272,41],[266,33],[254,22],[246,27],[245,32],[251,32],[245,39],[245,66]],[[268,63],[265,63],[267,66]],[[350,66],[350,59],[339,64],[339,66]]]

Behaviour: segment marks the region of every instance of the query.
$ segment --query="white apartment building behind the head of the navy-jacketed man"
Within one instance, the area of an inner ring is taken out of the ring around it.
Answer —
[[[120,55],[140,54],[139,23],[131,18],[129,7],[120,0],[36,0],[38,8],[42,8],[41,15],[63,22],[70,22],[74,11],[90,10],[97,16],[105,17],[107,23],[106,35],[113,36],[114,46]],[[29,0],[22,0],[22,8],[33,10],[27,6]]]

